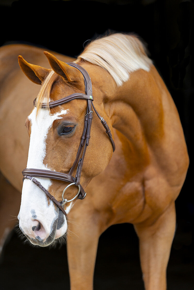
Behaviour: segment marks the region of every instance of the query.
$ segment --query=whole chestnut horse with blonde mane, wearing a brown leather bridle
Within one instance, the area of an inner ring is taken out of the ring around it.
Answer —
[[[165,290],[189,158],[177,108],[143,42],[114,33],[76,59],[26,45],[0,55],[0,169],[22,192],[21,231],[41,247],[67,235],[71,290],[90,290],[100,235],[133,224],[145,289]]]

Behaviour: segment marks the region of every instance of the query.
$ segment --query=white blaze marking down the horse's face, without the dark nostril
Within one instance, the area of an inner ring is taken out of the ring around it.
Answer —
[[[49,166],[43,163],[46,156],[47,134],[54,120],[61,119],[61,115],[68,114],[69,110],[61,109],[59,113],[49,115],[49,111],[47,109],[41,109],[37,119],[36,110],[37,109],[34,108],[28,117],[31,121],[31,136],[26,167],[54,171],[54,168],[49,168]],[[52,184],[52,181],[48,178],[36,177],[36,179],[40,181],[42,186],[44,186],[47,190]],[[54,203],[50,202],[48,205],[46,194],[44,194],[38,186],[31,182],[31,180],[25,179],[22,188],[22,200],[18,215],[19,226],[26,235],[29,235],[31,238],[35,238],[31,229],[35,220],[34,217],[32,217],[31,210],[35,211],[37,216],[36,219],[43,225],[45,229],[45,237],[42,235],[41,238],[46,240],[46,235],[51,232],[52,224],[57,218]],[[60,230],[65,233],[66,229],[67,222],[65,220],[65,223]]]

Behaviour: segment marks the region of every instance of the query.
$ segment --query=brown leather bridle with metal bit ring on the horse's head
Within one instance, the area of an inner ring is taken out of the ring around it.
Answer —
[[[50,198],[50,200],[52,200],[58,207],[59,209],[64,213],[65,216],[67,216],[65,210],[63,209],[63,205],[67,202],[71,202],[72,200],[76,199],[76,197],[78,199],[83,200],[86,196],[86,192],[84,191],[83,187],[80,185],[80,177],[81,177],[81,170],[82,170],[82,166],[83,166],[83,160],[85,157],[85,153],[86,153],[86,148],[89,145],[89,140],[90,140],[90,130],[91,130],[91,126],[92,126],[92,108],[94,109],[95,113],[97,114],[97,116],[99,117],[99,119],[101,120],[102,125],[104,126],[106,133],[111,141],[111,144],[113,146],[113,152],[115,151],[115,143],[113,141],[112,138],[112,134],[111,131],[106,123],[106,121],[104,120],[103,117],[101,117],[99,115],[99,113],[97,112],[97,110],[95,109],[94,105],[93,105],[93,96],[92,96],[92,83],[91,83],[91,79],[87,73],[87,71],[82,68],[81,66],[79,66],[78,64],[72,63],[72,62],[67,62],[67,64],[69,66],[72,66],[74,68],[77,68],[83,75],[84,78],[84,84],[85,84],[85,92],[86,94],[82,94],[82,93],[75,93],[72,95],[69,95],[63,99],[57,100],[57,101],[53,101],[53,102],[49,102],[49,108],[54,108],[56,106],[60,106],[62,104],[65,104],[67,102],[70,102],[74,99],[84,99],[87,101],[87,112],[86,112],[86,116],[84,119],[84,128],[83,128],[83,134],[81,136],[81,142],[77,151],[77,155],[76,155],[76,159],[74,161],[74,164],[72,166],[72,168],[70,169],[69,174],[65,174],[65,173],[61,173],[61,172],[56,172],[56,171],[50,171],[50,170],[45,170],[45,169],[34,169],[34,168],[25,168],[22,171],[22,174],[24,175],[23,177],[23,181],[24,179],[29,179],[31,180],[35,185],[37,185],[40,189],[42,189],[42,191],[45,192],[45,194]],[[36,99],[34,100],[33,104],[35,106],[35,102]],[[42,103],[42,108],[47,108],[47,103]],[[83,149],[83,153],[81,156],[81,152]],[[80,158],[81,156],[81,158]],[[75,169],[75,167],[77,166],[77,170],[76,170],[76,175],[75,177],[72,176],[72,173]],[[43,178],[51,178],[51,179],[57,179],[57,180],[62,180],[65,182],[69,182],[70,184],[67,185],[65,187],[65,189],[63,190],[62,193],[62,202],[58,202],[53,195],[51,195],[43,186],[42,184],[35,179],[35,177],[43,177]],[[67,200],[66,198],[64,198],[64,193],[67,190],[67,188],[69,188],[71,185],[75,185],[78,186],[78,192],[75,195],[74,198],[72,198],[71,200]]]

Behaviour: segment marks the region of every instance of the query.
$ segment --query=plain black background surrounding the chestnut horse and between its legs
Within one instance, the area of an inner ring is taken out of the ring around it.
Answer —
[[[194,288],[193,15],[193,1],[0,0],[0,45],[28,43],[75,57],[86,40],[106,32],[135,32],[147,43],[179,111],[190,156],[186,181],[176,201],[177,231],[167,270],[169,290]],[[55,287],[69,289],[66,246],[34,248],[13,231],[1,257],[0,289]],[[99,240],[94,289],[119,287],[143,290],[138,239],[130,224],[112,226]]]

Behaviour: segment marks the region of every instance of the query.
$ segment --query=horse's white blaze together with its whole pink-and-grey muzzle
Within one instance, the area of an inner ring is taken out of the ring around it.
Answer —
[[[61,110],[59,113],[49,115],[46,109],[40,110],[36,119],[36,108],[29,115],[31,121],[31,136],[27,168],[39,168],[54,170],[43,164],[46,155],[46,138],[54,120],[60,119],[60,115],[69,113]],[[38,178],[38,181],[49,190],[52,182],[47,178]],[[71,204],[67,207],[70,211]],[[55,239],[64,235],[67,231],[67,221],[61,211],[55,209],[54,203],[47,199],[46,195],[31,180],[24,180],[22,188],[22,200],[18,215],[19,227],[32,244],[42,247],[48,246]]]

